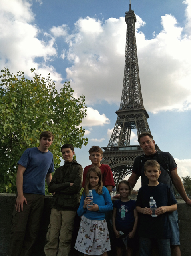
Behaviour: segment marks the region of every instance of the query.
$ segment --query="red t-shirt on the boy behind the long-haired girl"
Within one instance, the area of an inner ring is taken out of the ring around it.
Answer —
[[[83,172],[83,183],[82,183],[82,187],[84,188],[85,186],[85,181],[86,181],[86,174],[88,172],[88,169],[92,167],[92,164],[86,166],[84,168],[84,172]],[[113,173],[111,171],[111,168],[109,167],[109,165],[107,164],[101,164],[101,166],[99,167],[99,169],[101,170],[101,174],[102,174],[102,179],[103,179],[103,186],[113,186],[115,187],[115,182],[113,179]]]

